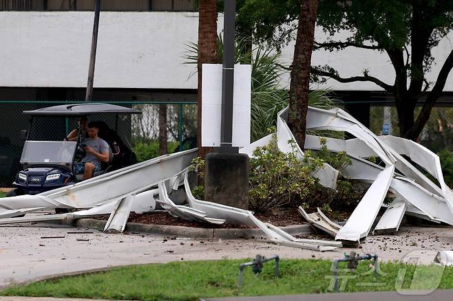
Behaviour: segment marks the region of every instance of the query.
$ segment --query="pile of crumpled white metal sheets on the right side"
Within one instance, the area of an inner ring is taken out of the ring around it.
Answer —
[[[287,143],[288,140],[294,141],[285,122],[287,111],[288,109],[284,109],[277,117],[277,145],[280,150],[286,152],[294,151],[294,146]],[[349,140],[324,139],[329,150],[346,151],[352,159],[352,165],[344,170],[346,176],[370,184],[346,224],[339,229],[337,239],[359,241],[360,238],[367,236],[388,191],[396,194],[397,199],[387,208],[375,230],[397,231],[406,213],[437,223],[453,225],[453,193],[443,180],[439,157],[427,148],[400,137],[378,137],[341,109],[324,110],[309,107],[306,129],[341,131],[354,135],[356,138]],[[307,135],[305,147],[319,150],[321,148],[319,138]],[[255,145],[251,144],[244,148],[244,153],[251,154],[254,147],[271,141],[271,135],[268,135],[255,142]],[[302,150],[298,146],[295,151],[299,157],[302,157]],[[423,175],[423,172],[403,155],[425,168],[439,181],[441,187],[439,188],[436,183]],[[363,159],[372,156],[379,157],[386,167],[383,168]],[[323,182],[328,183],[326,178],[329,176],[326,172],[324,176]],[[330,179],[333,177],[330,176]],[[327,186],[333,187],[333,184]]]

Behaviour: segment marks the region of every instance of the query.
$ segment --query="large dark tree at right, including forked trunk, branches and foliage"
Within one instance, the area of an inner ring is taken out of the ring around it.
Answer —
[[[239,9],[238,29],[253,36],[255,43],[267,42],[280,48],[292,41],[297,26],[300,0],[246,0]],[[439,62],[436,82],[425,78],[434,58],[432,49],[453,30],[451,0],[323,0],[319,1],[317,26],[327,34],[315,41],[314,49],[336,51],[346,47],[385,52],[394,67],[394,82],[375,78],[373,70],[357,69],[343,77],[330,65],[312,66],[311,80],[324,82],[373,82],[393,94],[402,137],[417,140],[439,99],[453,67],[453,52]],[[338,33],[348,32],[341,40]],[[359,75],[357,75],[359,74]],[[430,91],[429,91],[430,90]],[[415,115],[423,94],[428,97]],[[417,118],[415,118],[417,116]]]

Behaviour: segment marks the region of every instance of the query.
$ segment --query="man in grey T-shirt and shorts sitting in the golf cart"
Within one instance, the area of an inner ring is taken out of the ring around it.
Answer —
[[[81,144],[85,157],[74,164],[74,172],[83,174],[83,179],[93,177],[93,172],[101,170],[101,163],[109,161],[109,144],[98,137],[99,126],[96,122],[88,123],[88,138]]]

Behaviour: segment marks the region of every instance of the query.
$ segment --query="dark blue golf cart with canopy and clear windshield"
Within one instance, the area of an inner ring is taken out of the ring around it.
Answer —
[[[76,175],[74,172],[74,164],[85,157],[83,150],[83,129],[77,127],[75,141],[67,141],[67,135],[58,137],[59,141],[42,141],[32,140],[34,136],[43,135],[43,130],[34,131],[33,124],[43,118],[81,118],[83,116],[99,116],[104,115],[115,116],[115,130],[109,128],[106,122],[96,122],[99,127],[98,136],[109,144],[109,162],[103,164],[102,170],[94,172],[93,177],[102,175],[105,172],[130,166],[136,163],[134,152],[120,139],[117,134],[118,130],[118,115],[141,114],[140,111],[120,107],[114,104],[104,103],[84,103],[84,104],[65,104],[54,107],[37,109],[34,111],[23,111],[24,115],[30,116],[30,127],[28,131],[23,131],[25,144],[23,146],[20,163],[23,165],[21,170],[12,185],[15,189],[8,193],[8,197],[20,194],[39,194],[55,188],[68,186],[81,181],[83,177]],[[44,119],[45,120],[45,119]],[[48,120],[45,120],[45,129],[49,131],[55,130],[50,128]],[[42,127],[42,126],[41,126]],[[61,129],[59,133],[62,132]]]

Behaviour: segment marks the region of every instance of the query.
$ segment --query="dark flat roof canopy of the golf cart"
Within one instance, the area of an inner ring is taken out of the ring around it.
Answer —
[[[141,114],[142,112],[116,104],[84,103],[84,104],[62,104],[54,107],[47,107],[33,111],[23,111],[23,115],[30,116],[83,116],[94,114]]]

